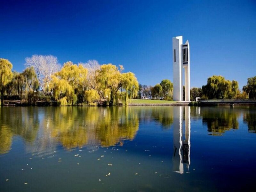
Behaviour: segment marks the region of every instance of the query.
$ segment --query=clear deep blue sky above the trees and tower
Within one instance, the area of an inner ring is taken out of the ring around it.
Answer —
[[[123,65],[141,84],[172,81],[172,37],[190,43],[191,87],[212,75],[256,76],[256,1],[0,0],[0,58],[24,69],[25,57],[61,64]]]

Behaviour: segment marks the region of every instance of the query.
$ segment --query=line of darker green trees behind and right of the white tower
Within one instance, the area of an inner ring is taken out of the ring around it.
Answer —
[[[138,99],[172,100],[172,96],[173,84],[168,79],[164,79],[155,86],[139,84]],[[185,96],[184,86],[183,96]],[[238,88],[238,82],[235,80],[229,81],[223,76],[211,76],[202,88],[193,87],[190,89],[190,100],[195,101],[196,97],[201,99],[256,99],[256,76],[248,78],[247,84],[242,90]]]

